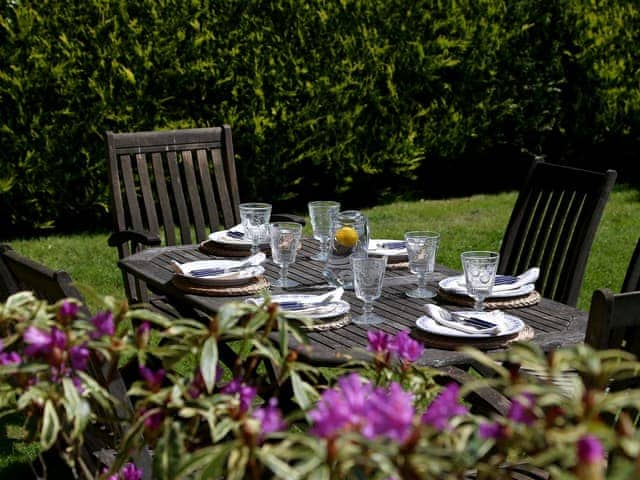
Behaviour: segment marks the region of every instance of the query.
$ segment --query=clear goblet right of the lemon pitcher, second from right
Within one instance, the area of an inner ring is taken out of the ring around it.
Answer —
[[[411,298],[433,298],[435,290],[427,287],[427,275],[433,272],[440,234],[429,231],[413,231],[404,234],[409,257],[409,270],[418,275],[418,288],[405,292]]]

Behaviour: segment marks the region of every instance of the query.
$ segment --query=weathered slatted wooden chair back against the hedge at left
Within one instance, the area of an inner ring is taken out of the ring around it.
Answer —
[[[107,132],[107,148],[114,232],[143,232],[162,237],[165,245],[181,245],[201,242],[221,226],[240,223],[228,125]],[[139,248],[120,243],[119,258]],[[147,301],[144,286],[127,275],[124,282],[130,300]]]

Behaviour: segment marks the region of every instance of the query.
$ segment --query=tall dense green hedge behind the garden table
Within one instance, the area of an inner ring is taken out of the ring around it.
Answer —
[[[631,0],[4,0],[1,230],[106,224],[106,130],[229,123],[242,196],[298,206],[451,194],[521,152],[628,158],[639,15]]]

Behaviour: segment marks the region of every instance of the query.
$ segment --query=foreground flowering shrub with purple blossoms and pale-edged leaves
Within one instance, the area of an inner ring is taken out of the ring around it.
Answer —
[[[274,328],[282,345],[288,335],[301,338],[269,302],[227,304],[209,325],[168,321],[113,299],[113,312],[77,318],[75,302],[47,305],[21,292],[0,305],[0,412],[25,414],[33,438],[44,450],[60,448],[79,478],[140,478],[129,460],[145,442],[154,450],[153,478],[462,478],[470,470],[499,478],[523,462],[553,478],[638,474],[640,443],[628,409],[637,411],[640,390],[607,388],[611,378],[637,375],[640,363],[624,352],[577,346],[547,359],[516,343],[499,364],[469,349],[498,376],[440,388],[437,371],[413,363],[423,347],[408,332],[370,331],[371,362],[354,364],[318,390],[307,381],[316,370],[269,340]],[[119,334],[119,322],[132,318],[143,323]],[[150,328],[160,344],[148,342]],[[229,341],[239,342],[238,356],[231,380],[224,380],[219,356]],[[91,352],[107,365],[135,353],[139,380],[129,390],[135,413],[118,419],[115,412],[126,409],[83,372]],[[187,354],[195,355],[196,367],[179,373]],[[151,366],[151,359],[160,363]],[[259,360],[276,367],[274,382],[260,383]],[[523,362],[549,378],[575,372],[575,394],[521,375],[513,367]],[[280,390],[285,380],[292,399]],[[506,416],[472,414],[464,404],[487,384],[511,398]],[[286,416],[277,397],[294,401]],[[129,430],[109,465],[90,471],[79,456],[86,429],[114,418]]]

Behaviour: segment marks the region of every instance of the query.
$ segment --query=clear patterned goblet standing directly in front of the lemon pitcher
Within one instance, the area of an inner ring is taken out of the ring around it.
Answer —
[[[361,325],[375,325],[384,319],[373,313],[373,301],[382,293],[382,280],[387,257],[353,257],[353,287],[356,297],[364,302],[362,315],[353,319]]]

